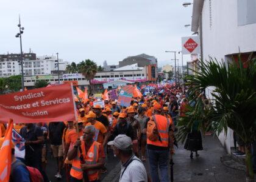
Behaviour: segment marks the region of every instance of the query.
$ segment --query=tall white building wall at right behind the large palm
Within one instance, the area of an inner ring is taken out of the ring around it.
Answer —
[[[246,60],[256,50],[256,0],[194,0],[192,32],[199,32],[203,59],[209,56],[218,61],[232,61],[241,53]],[[210,95],[212,90],[207,90]],[[219,140],[230,153],[233,132],[219,135]]]

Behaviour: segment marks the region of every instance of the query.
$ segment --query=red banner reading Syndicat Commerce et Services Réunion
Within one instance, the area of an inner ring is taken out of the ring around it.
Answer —
[[[0,95],[0,121],[39,123],[74,121],[76,112],[70,84]]]

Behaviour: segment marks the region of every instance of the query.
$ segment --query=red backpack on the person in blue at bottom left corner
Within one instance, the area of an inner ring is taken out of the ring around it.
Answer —
[[[21,161],[16,162],[15,164],[12,165],[11,175],[12,175],[13,169],[19,165],[26,166]],[[43,175],[41,175],[41,172],[37,168],[30,167],[30,166],[26,166],[26,168],[29,171],[29,178],[30,178],[31,182],[43,182],[44,181]]]

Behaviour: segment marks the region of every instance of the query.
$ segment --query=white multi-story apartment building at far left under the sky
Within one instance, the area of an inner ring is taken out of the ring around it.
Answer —
[[[59,70],[66,70],[68,62],[59,59]],[[58,70],[56,56],[36,56],[35,53],[23,54],[23,73],[29,75],[49,75]],[[21,75],[19,54],[0,55],[0,76]]]

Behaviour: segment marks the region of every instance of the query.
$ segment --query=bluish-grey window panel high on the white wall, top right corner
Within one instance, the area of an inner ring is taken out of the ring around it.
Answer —
[[[237,0],[238,26],[256,23],[256,0]]]

